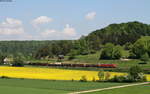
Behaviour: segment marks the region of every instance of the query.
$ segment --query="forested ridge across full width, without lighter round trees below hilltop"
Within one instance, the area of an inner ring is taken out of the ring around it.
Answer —
[[[68,53],[88,54],[99,51],[103,47],[102,44],[134,43],[141,36],[150,36],[150,25],[140,22],[111,24],[79,40],[0,41],[0,54],[22,53],[26,56],[36,55],[36,57]]]

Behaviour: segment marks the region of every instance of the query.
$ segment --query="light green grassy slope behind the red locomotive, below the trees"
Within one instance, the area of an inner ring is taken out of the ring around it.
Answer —
[[[99,60],[100,54],[89,54],[89,55],[78,55],[76,56],[76,59],[70,61],[75,63],[105,63],[105,64],[117,64],[119,68],[129,68],[131,66],[141,66],[142,68],[149,68],[150,62],[148,64],[138,64],[142,61],[137,59],[131,59],[128,61],[123,60]],[[68,61],[69,62],[69,61]]]

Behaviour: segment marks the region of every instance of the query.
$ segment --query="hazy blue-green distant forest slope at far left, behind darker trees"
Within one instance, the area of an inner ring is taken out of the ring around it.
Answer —
[[[36,52],[51,41],[0,41],[0,54],[15,54]]]

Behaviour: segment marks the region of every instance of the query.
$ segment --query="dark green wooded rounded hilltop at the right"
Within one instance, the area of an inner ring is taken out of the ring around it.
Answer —
[[[86,38],[89,41],[101,42],[102,44],[111,42],[123,45],[127,42],[135,42],[141,36],[150,35],[150,25],[137,21],[110,24],[109,26],[90,33]]]

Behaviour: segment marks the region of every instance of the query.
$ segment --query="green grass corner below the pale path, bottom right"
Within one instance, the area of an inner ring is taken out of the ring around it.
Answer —
[[[150,93],[150,84],[98,91],[92,93],[84,93],[84,94],[149,94],[149,93]]]

